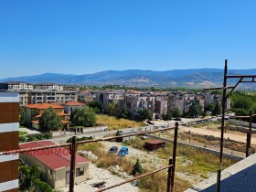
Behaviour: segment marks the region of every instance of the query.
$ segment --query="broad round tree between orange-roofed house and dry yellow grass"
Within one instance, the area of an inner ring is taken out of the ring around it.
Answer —
[[[84,106],[73,113],[73,126],[91,127],[96,124],[96,113],[88,106]]]

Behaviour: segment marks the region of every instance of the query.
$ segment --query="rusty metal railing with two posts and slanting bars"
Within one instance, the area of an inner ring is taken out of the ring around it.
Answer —
[[[112,137],[104,137],[104,138],[99,138],[99,139],[93,139],[93,140],[87,140],[87,141],[77,141],[77,137],[73,136],[72,137],[72,143],[70,144],[55,144],[55,145],[50,145],[50,146],[42,146],[42,147],[35,147],[35,148],[28,148],[28,149],[19,149],[19,150],[13,150],[13,151],[5,151],[1,152],[0,155],[14,155],[14,154],[19,154],[19,153],[27,153],[31,151],[37,151],[41,149],[51,149],[51,148],[56,148],[56,147],[64,147],[64,146],[69,146],[69,153],[70,153],[70,175],[69,175],[69,192],[74,192],[74,186],[75,186],[75,162],[76,162],[76,154],[77,154],[77,146],[78,144],[89,144],[92,142],[100,142],[100,141],[108,141],[116,138],[123,138],[123,137],[128,137],[128,136],[134,136],[134,135],[141,135],[145,133],[156,133],[156,132],[161,132],[161,131],[167,131],[170,129],[175,129],[175,134],[174,134],[174,147],[173,147],[173,155],[172,158],[169,159],[169,165],[156,169],[153,172],[144,174],[142,176],[135,176],[131,179],[125,180],[122,183],[113,185],[111,187],[104,187],[98,190],[97,192],[100,191],[105,191],[113,187],[118,187],[121,186],[125,183],[129,183],[133,180],[136,180],[138,178],[142,178],[144,176],[150,176],[152,174],[155,174],[156,172],[168,169],[168,176],[167,176],[167,192],[173,192],[174,190],[174,181],[175,181],[175,169],[176,169],[176,144],[177,144],[177,131],[178,131],[178,123],[176,123],[176,127],[168,127],[168,128],[163,128],[163,129],[156,129],[152,131],[145,131],[145,132],[138,132],[138,133],[130,133],[130,134],[124,134],[124,135],[118,135],[118,136],[112,136]],[[85,190],[86,191],[86,190]]]

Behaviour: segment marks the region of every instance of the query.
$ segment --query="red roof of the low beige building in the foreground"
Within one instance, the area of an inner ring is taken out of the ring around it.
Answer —
[[[55,145],[55,143],[50,141],[40,141],[40,142],[31,142],[27,144],[20,144],[21,149],[27,149],[32,147],[41,147]],[[34,152],[28,152],[25,155],[32,155],[42,164],[47,165],[49,168],[56,170],[61,167],[67,167],[70,165],[70,155],[69,149],[63,147],[56,147],[52,149],[42,149]],[[76,164],[90,162],[90,160],[76,155]]]

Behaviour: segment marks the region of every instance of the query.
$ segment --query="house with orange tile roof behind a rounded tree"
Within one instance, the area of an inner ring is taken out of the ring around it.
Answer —
[[[39,129],[39,119],[42,113],[51,107],[54,112],[56,112],[63,124],[64,129],[69,129],[69,114],[64,112],[64,107],[53,103],[37,103],[37,104],[27,104],[24,106],[24,116],[26,119],[27,126],[32,126],[33,128]]]

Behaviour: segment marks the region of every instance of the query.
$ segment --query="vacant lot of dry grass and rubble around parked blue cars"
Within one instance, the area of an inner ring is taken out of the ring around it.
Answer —
[[[165,148],[154,152],[144,150],[144,142],[137,137],[125,144],[116,142],[101,142],[98,144],[87,144],[80,146],[80,149],[91,151],[98,158],[93,163],[98,167],[108,169],[113,175],[129,177],[132,174],[133,165],[138,158],[144,173],[153,171],[168,164],[168,158],[172,155],[172,144],[166,144]],[[116,154],[107,155],[112,145],[120,149],[123,145],[129,148],[129,155],[120,157]],[[224,159],[224,167],[234,164],[234,161]],[[184,191],[188,187],[202,181],[216,173],[218,170],[219,158],[215,155],[209,155],[191,147],[177,148],[176,157],[176,189],[175,191]],[[118,169],[118,171],[116,170]],[[138,182],[142,191],[165,191],[167,172],[161,171],[154,176],[147,176]]]

